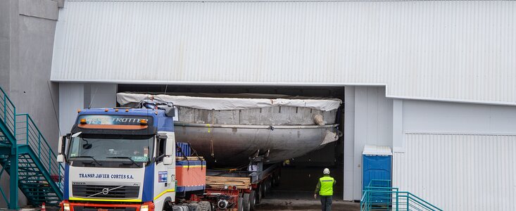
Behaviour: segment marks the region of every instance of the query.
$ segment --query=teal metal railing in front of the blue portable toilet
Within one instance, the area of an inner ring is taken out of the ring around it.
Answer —
[[[410,192],[391,187],[390,180],[371,181],[363,191],[360,210],[442,211]]]

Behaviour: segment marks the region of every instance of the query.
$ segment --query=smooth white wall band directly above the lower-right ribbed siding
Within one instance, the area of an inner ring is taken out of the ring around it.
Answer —
[[[403,101],[404,132],[516,135],[516,107]]]

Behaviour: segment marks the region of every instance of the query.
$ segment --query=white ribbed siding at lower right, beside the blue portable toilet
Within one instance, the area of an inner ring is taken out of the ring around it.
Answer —
[[[516,210],[516,136],[405,134],[393,185],[443,210]]]

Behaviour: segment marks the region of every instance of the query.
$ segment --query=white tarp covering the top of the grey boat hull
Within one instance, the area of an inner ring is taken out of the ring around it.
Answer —
[[[336,98],[326,99],[287,99],[287,98],[216,98],[216,97],[196,97],[196,96],[172,96],[165,94],[133,94],[118,93],[116,98],[120,105],[128,103],[139,103],[151,96],[158,101],[172,102],[174,106],[198,108],[206,110],[240,110],[249,108],[266,108],[273,106],[294,106],[303,108],[313,108],[317,110],[335,110],[339,108],[342,101]]]

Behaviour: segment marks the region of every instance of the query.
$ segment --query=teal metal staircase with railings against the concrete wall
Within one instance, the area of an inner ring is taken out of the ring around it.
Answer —
[[[10,176],[9,197],[0,187],[9,209],[19,208],[18,188],[34,206],[58,206],[63,199],[63,166],[30,115],[17,114],[1,87],[0,165],[0,176]]]

